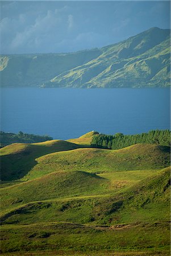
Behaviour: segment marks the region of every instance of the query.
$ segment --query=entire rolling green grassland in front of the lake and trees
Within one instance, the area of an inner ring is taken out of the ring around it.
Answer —
[[[1,152],[1,255],[170,255],[170,147],[14,143]]]

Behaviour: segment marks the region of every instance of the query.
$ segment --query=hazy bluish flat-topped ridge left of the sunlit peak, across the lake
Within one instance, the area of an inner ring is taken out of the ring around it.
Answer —
[[[100,49],[75,53],[1,55],[1,86],[44,86],[53,77],[83,65],[101,54]]]

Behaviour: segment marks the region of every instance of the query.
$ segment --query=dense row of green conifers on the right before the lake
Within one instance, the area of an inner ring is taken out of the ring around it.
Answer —
[[[135,135],[123,135],[122,133],[116,133],[115,135],[98,134],[93,135],[91,146],[119,149],[137,143],[150,143],[160,144],[162,146],[170,146],[170,131],[152,130],[148,133]]]

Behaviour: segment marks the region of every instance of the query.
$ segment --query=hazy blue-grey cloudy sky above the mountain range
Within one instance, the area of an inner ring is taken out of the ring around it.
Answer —
[[[170,28],[170,1],[1,1],[0,53],[103,47]]]

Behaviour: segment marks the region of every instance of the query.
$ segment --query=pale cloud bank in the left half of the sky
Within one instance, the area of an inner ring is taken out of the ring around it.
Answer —
[[[28,9],[12,17],[6,16],[0,23],[1,51],[49,51],[73,28],[73,15],[69,12],[64,5],[44,11]]]

